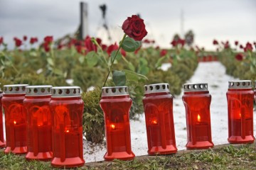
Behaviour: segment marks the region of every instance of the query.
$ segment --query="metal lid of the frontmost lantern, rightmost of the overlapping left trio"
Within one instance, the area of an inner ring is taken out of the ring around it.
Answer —
[[[56,86],[51,89],[52,98],[80,97],[79,86]]]

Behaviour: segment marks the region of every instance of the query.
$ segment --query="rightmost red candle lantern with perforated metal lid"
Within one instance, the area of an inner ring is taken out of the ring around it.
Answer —
[[[252,81],[228,81],[228,142],[253,143]]]

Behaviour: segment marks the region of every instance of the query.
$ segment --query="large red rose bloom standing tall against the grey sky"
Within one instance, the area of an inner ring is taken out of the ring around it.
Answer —
[[[142,40],[147,32],[144,24],[144,20],[136,15],[128,17],[122,25],[122,30],[126,33],[129,38],[140,41]]]

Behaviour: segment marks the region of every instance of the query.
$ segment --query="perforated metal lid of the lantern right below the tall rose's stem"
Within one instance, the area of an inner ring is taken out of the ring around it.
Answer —
[[[127,86],[102,87],[102,96],[122,96],[129,95]]]

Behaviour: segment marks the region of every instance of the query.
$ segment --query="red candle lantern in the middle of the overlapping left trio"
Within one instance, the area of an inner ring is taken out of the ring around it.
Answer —
[[[52,118],[50,113],[50,89],[52,86],[26,86],[23,101],[27,113],[27,160],[52,159]]]

